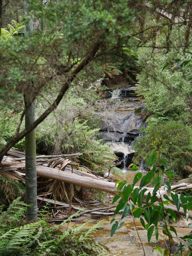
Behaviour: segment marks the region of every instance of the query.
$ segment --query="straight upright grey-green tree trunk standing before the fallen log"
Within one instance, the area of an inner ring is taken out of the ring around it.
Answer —
[[[25,12],[28,13],[29,2],[24,2]],[[26,39],[30,36],[32,31],[32,19],[26,23],[25,36]],[[32,90],[32,88],[31,88]],[[35,107],[34,102],[31,103],[30,95],[28,92],[25,96],[25,104],[27,107],[25,113],[25,128],[29,128],[35,121]],[[26,164],[26,204],[30,207],[27,208],[26,218],[28,220],[37,220],[37,172],[36,172],[36,138],[35,129],[25,136],[25,164]]]

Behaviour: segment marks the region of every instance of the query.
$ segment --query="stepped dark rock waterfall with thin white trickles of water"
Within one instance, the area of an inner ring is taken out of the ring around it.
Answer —
[[[145,122],[143,119],[136,115],[135,110],[140,107],[140,102],[136,98],[136,88],[130,84],[118,84],[109,86],[109,91],[105,92],[105,97],[109,98],[110,106],[114,106],[117,100],[126,98],[120,106],[114,111],[113,119],[104,123],[101,127],[100,138],[105,142],[109,142],[109,146],[114,153],[118,156],[124,172],[132,162],[134,150],[132,146],[140,136],[139,128]]]

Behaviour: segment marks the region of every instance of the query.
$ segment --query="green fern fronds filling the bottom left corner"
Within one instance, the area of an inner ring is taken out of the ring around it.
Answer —
[[[46,209],[39,212],[40,220],[27,222],[26,207],[17,198],[6,212],[0,208],[0,256],[101,256],[107,250],[92,239],[101,222],[89,230],[86,229],[86,223],[77,224],[63,233],[59,231],[59,226],[72,220],[79,212],[53,226],[46,222]]]

